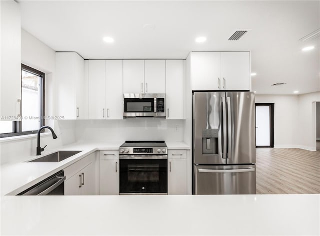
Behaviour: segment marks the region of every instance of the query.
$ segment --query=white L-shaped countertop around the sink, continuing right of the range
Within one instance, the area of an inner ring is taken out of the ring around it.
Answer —
[[[56,151],[82,151],[72,157],[69,157],[60,162],[40,163],[40,162],[25,162],[40,156],[26,156],[22,161],[17,163],[8,163],[1,165],[1,195],[15,195],[41,180],[49,177],[55,172],[77,162],[81,158],[89,155],[97,150],[118,150],[119,146],[124,141],[113,142],[94,142],[94,143],[73,143],[55,149],[46,149],[41,152],[41,156],[50,154]],[[166,142],[168,149],[189,149],[183,142]],[[19,158],[18,160],[21,160]]]

